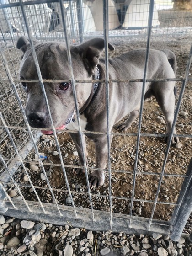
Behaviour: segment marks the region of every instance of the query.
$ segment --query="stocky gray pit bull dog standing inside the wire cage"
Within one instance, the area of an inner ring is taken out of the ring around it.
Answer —
[[[70,80],[69,64],[65,43],[46,42],[34,43],[38,63],[43,79]],[[17,41],[17,48],[24,53],[20,78],[22,80],[38,80],[37,70],[32,57],[32,49],[25,37]],[[114,50],[112,44],[108,44]],[[75,80],[105,79],[105,60],[101,59],[104,40],[94,38],[77,46],[70,47]],[[109,59],[110,79],[142,79],[144,76],[145,49],[133,50],[114,59]],[[175,78],[176,57],[170,50],[150,50],[148,64],[148,79]],[[53,123],[56,129],[64,128],[78,130],[75,102],[70,83],[44,83],[48,97]],[[76,83],[76,95],[80,112],[82,130],[94,132],[107,131],[105,83]],[[51,128],[50,117],[45,105],[43,93],[38,82],[23,83],[27,93],[26,115],[29,124],[35,128]],[[123,117],[128,119],[118,125],[120,131],[126,131],[139,114],[142,83],[112,83],[109,84],[109,130]],[[147,82],[145,98],[155,96],[167,123],[167,133],[170,133],[175,108],[175,82]],[[52,134],[52,131],[43,132]],[[176,131],[174,130],[176,134]],[[79,155],[78,165],[83,166],[83,155],[78,133],[69,133],[75,143]],[[96,147],[96,168],[105,169],[107,165],[107,136],[102,134],[86,134],[93,140]],[[83,135],[85,145],[85,135]],[[111,136],[112,140],[112,136]],[[173,143],[178,138],[173,138]],[[85,148],[86,152],[86,148]],[[74,169],[75,174],[84,173],[84,169]],[[104,171],[94,171],[90,179],[90,187],[104,184]]]

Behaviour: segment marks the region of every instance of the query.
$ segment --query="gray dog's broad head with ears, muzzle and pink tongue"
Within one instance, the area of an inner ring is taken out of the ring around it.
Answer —
[[[33,42],[43,79],[71,80],[67,49],[62,42]],[[25,37],[17,41],[17,48],[23,52],[19,75],[22,80],[38,80],[37,68],[32,48]],[[111,44],[109,49],[114,50]],[[104,49],[104,40],[94,38],[77,46],[70,47],[72,68],[75,80],[91,80],[96,65]],[[29,124],[35,128],[51,128],[48,109],[39,82],[26,82],[23,87],[27,93],[26,115]],[[53,124],[64,129],[75,113],[75,101],[71,83],[44,82]],[[92,83],[76,83],[78,108],[83,107],[92,90]],[[45,131],[45,134],[53,132]]]

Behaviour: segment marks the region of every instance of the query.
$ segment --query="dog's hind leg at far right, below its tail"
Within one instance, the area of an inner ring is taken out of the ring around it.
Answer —
[[[171,133],[171,127],[173,124],[174,119],[174,112],[175,112],[175,93],[174,93],[174,86],[171,86],[170,83],[175,82],[160,82],[153,87],[154,90],[154,96],[160,105],[160,108],[165,116],[166,124],[167,124],[167,130],[166,133]],[[174,134],[176,134],[176,128],[174,128],[173,131]],[[179,138],[173,137],[172,138],[172,144],[178,143]]]

